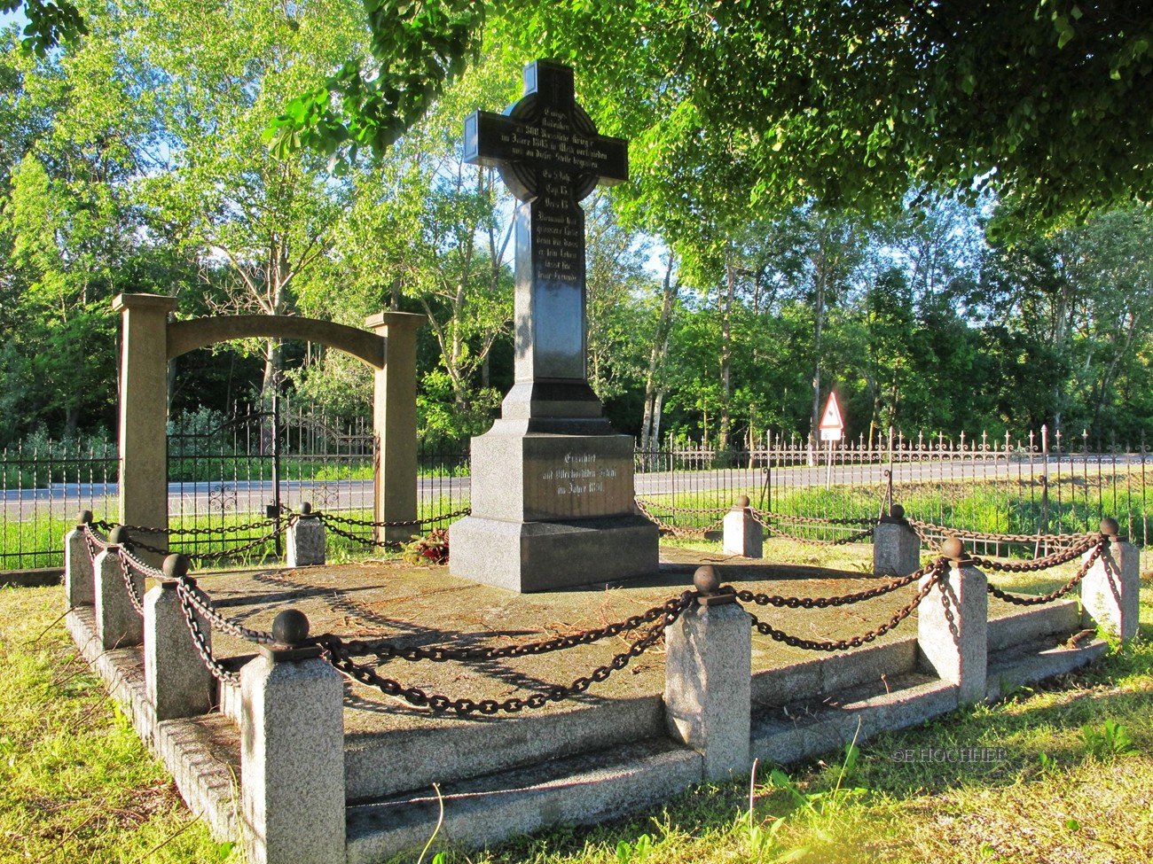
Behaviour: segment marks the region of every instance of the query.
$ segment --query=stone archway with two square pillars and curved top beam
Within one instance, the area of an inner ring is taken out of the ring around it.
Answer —
[[[374,518],[416,518],[416,328],[424,316],[379,312],[357,329],[285,316],[225,316],[169,321],[176,298],[121,294],[120,510],[126,525],[168,525],[166,424],[168,361],[196,348],[243,338],[300,339],[336,348],[374,370],[372,431],[379,446]],[[404,540],[406,528],[378,529]],[[145,539],[145,538],[141,538]],[[156,543],[156,539],[149,541]]]

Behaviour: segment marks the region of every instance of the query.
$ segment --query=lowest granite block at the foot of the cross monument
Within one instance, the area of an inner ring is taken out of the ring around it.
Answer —
[[[466,516],[450,532],[454,576],[528,593],[616,582],[657,569],[657,526],[643,516],[505,522]]]

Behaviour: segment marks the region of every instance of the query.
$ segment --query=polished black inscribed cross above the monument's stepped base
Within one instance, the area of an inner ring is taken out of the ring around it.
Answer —
[[[515,222],[517,382],[586,382],[580,202],[598,184],[628,179],[628,143],[597,134],[576,105],[571,68],[537,60],[525,68],[523,98],[504,114],[477,111],[465,121],[465,161],[499,168],[525,203]]]

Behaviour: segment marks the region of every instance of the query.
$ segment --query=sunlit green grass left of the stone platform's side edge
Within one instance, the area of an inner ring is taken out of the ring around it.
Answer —
[[[53,623],[62,604],[0,590],[0,862],[224,861]]]

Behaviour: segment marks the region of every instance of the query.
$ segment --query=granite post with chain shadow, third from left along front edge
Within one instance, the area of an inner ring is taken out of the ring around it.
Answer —
[[[929,578],[922,576],[919,584]],[[952,562],[917,609],[922,665],[957,685],[962,705],[985,699],[988,619],[988,579],[965,560]]]

